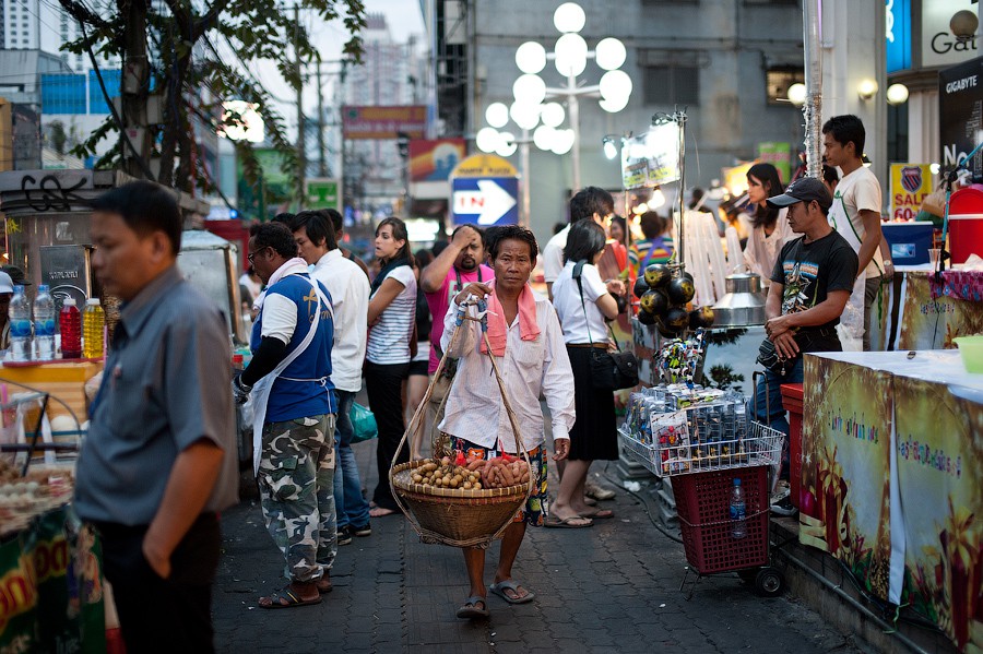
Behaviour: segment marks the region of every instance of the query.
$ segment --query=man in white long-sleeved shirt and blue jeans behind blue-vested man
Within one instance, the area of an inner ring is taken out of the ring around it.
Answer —
[[[324,285],[334,308],[334,346],[331,349],[331,381],[337,395],[334,453],[334,504],[337,512],[337,544],[353,536],[369,536],[369,506],[362,496],[362,479],[352,437],[350,413],[362,390],[362,361],[368,330],[368,277],[362,267],[345,258],[337,247],[331,216],[321,211],[301,211],[291,223],[300,257],[313,265],[310,276]]]

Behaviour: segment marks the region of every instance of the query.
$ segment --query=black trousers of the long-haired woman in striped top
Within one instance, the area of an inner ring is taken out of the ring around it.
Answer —
[[[369,396],[369,408],[376,415],[379,427],[379,442],[376,447],[376,465],[379,484],[372,494],[372,501],[383,509],[398,511],[389,484],[389,467],[395,457],[396,448],[406,430],[403,418],[403,380],[410,376],[410,364],[379,365],[365,362],[365,388]],[[396,463],[410,461],[410,448],[403,448]]]

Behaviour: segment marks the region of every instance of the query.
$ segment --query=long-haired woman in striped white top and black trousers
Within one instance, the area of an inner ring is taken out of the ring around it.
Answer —
[[[379,483],[372,494],[372,518],[399,510],[389,484],[400,439],[403,438],[403,380],[410,376],[411,338],[416,322],[416,275],[406,224],[389,217],[376,227],[376,258],[381,264],[372,281],[368,308],[368,346],[365,356],[365,387],[369,406],[376,414],[379,442],[376,464]],[[404,449],[400,461],[410,460]]]

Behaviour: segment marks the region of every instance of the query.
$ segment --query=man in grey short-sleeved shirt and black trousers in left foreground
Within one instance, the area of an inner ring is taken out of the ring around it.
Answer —
[[[228,330],[178,270],[170,192],[139,181],[94,204],[93,271],[123,301],[76,471],[130,652],[212,652],[216,512],[236,501]]]

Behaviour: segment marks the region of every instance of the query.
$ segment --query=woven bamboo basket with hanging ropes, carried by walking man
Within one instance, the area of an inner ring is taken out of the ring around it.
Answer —
[[[476,319],[464,317],[464,320]],[[453,349],[453,344],[460,337],[462,324],[466,323],[462,320],[454,329],[448,350]],[[492,345],[488,343],[487,334],[484,331],[482,333],[488,348],[488,357],[492,359],[492,368],[495,370],[495,377],[498,380],[501,401],[512,425],[516,451],[519,452],[519,456],[525,464],[530,466],[529,484],[510,486],[508,488],[483,488],[481,490],[437,488],[416,484],[411,478],[413,471],[424,465],[426,461],[411,461],[391,466],[389,479],[392,484],[396,503],[403,510],[403,513],[406,514],[413,528],[424,543],[441,544],[451,547],[486,548],[493,540],[501,537],[505,530],[511,524],[516,513],[536,487],[536,475],[530,465],[529,453],[525,452],[525,448],[521,447],[522,438],[519,432],[519,424],[506,395],[505,383],[498,370],[498,364],[492,355]],[[393,461],[399,456],[400,450],[406,445],[408,435],[416,431],[419,421],[423,419],[423,413],[430,401],[434,384],[442,372],[446,360],[447,353],[440,359],[423,402],[419,403],[416,413],[414,413],[410,425],[406,427],[406,431],[403,432],[403,438],[396,448]],[[450,395],[450,391],[448,395]]]

